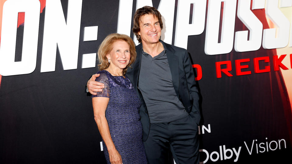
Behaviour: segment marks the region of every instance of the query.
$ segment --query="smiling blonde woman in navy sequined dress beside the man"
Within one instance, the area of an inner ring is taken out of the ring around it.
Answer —
[[[100,76],[96,81],[104,88],[92,95],[92,106],[108,164],[147,163],[139,115],[141,102],[125,76],[136,55],[133,40],[117,33],[108,35],[98,50]]]

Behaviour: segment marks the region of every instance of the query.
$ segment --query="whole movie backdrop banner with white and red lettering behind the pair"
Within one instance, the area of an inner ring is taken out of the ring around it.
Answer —
[[[106,163],[85,85],[144,5],[196,71],[201,163],[291,162],[292,0],[0,0],[0,162]]]

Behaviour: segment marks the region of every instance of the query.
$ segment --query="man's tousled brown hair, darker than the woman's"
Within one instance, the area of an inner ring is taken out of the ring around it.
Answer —
[[[140,9],[137,9],[137,11],[135,12],[135,15],[134,15],[134,20],[133,20],[133,22],[134,22],[133,32],[136,35],[139,43],[142,42],[141,36],[138,34],[138,32],[140,32],[141,16],[146,15],[146,14],[156,16],[158,18],[160,28],[163,29],[161,14],[157,9],[155,9],[154,7],[151,7],[151,6],[144,6]]]

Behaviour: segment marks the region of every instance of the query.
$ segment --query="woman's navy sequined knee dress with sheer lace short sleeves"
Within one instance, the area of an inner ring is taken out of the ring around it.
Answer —
[[[108,71],[101,70],[96,81],[104,84],[102,92],[92,97],[109,97],[106,108],[106,120],[110,135],[123,164],[147,163],[142,141],[142,124],[139,108],[141,102],[130,80],[122,76],[112,76]],[[103,151],[109,164],[109,153],[103,142]]]

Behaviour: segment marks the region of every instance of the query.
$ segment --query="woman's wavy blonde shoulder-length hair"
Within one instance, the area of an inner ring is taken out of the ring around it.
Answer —
[[[98,56],[98,60],[99,60],[99,70],[105,70],[106,68],[109,67],[109,62],[108,59],[106,57],[107,54],[109,54],[109,52],[113,49],[113,43],[115,41],[118,40],[122,40],[128,43],[129,47],[130,47],[130,54],[131,54],[131,61],[130,63],[127,65],[127,67],[123,70],[123,75],[125,75],[125,73],[127,72],[128,67],[130,67],[130,65],[132,63],[134,63],[134,61],[136,60],[136,48],[135,48],[135,43],[133,42],[133,40],[124,34],[118,34],[118,33],[113,33],[113,34],[109,34],[108,36],[106,36],[106,38],[103,40],[103,42],[100,44],[98,52],[97,52],[97,56]]]

